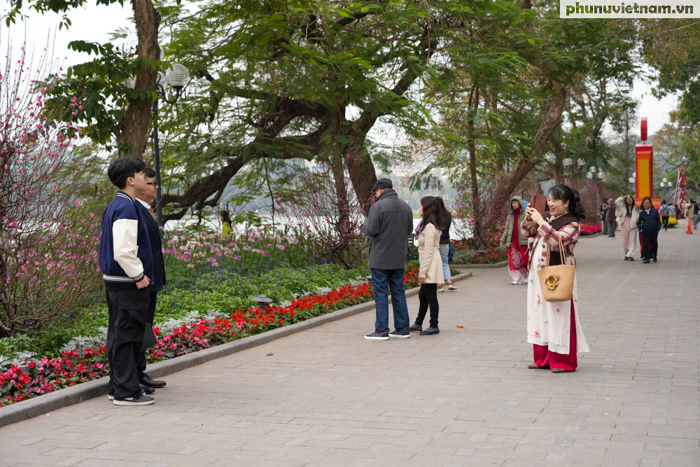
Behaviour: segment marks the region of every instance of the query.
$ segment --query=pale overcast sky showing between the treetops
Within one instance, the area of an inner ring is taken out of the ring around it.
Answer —
[[[129,2],[125,2],[127,5]],[[6,8],[0,10],[6,13]],[[9,38],[13,43],[13,49],[18,50],[20,44],[24,42],[25,31],[27,37],[27,50],[31,53],[32,47],[41,52],[47,43],[53,46],[53,56],[62,60],[64,69],[72,64],[85,62],[89,56],[84,53],[68,50],[68,43],[75,40],[94,41],[105,43],[109,41],[109,33],[120,27],[130,27],[128,18],[132,16],[129,6],[122,7],[119,4],[110,6],[88,6],[79,10],[71,11],[69,18],[73,25],[68,29],[58,31],[60,15],[45,14],[39,15],[33,11],[27,11],[29,19],[26,22],[18,21],[9,29]],[[8,39],[8,29],[1,25],[0,44],[6,48]],[[55,34],[55,41],[53,37]],[[50,37],[49,37],[50,36]],[[37,52],[37,53],[38,53]],[[65,60],[63,60],[65,57]],[[678,97],[668,96],[664,99],[656,99],[651,95],[650,85],[636,80],[632,92],[633,97],[639,100],[638,120],[640,117],[647,117],[649,120],[649,134],[654,134],[659,128],[668,123],[668,112],[678,105]],[[636,132],[639,132],[636,125]]]

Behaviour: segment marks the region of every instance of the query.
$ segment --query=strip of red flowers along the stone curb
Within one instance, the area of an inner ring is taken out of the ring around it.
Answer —
[[[415,265],[407,265],[405,288],[418,286],[418,272]],[[454,274],[458,273],[454,270]],[[150,362],[167,360],[370,300],[372,286],[349,284],[328,293],[291,300],[286,306],[267,310],[249,307],[246,311],[239,308],[227,317],[201,318],[176,326],[169,333],[154,327],[157,343],[148,350],[146,358]],[[26,371],[11,365],[0,373],[0,407],[109,375],[106,347],[102,344],[82,351],[62,351],[60,358],[43,357],[25,364],[29,367]]]

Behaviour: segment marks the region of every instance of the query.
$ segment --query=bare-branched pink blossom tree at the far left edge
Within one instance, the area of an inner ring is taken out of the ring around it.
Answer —
[[[7,50],[0,69],[0,337],[70,321],[94,297],[104,205],[104,189],[91,180],[100,167],[86,163],[80,143],[83,129],[45,116],[44,94],[56,76],[46,53],[33,68],[24,47],[19,57]],[[76,115],[82,106],[73,99],[64,111]]]

